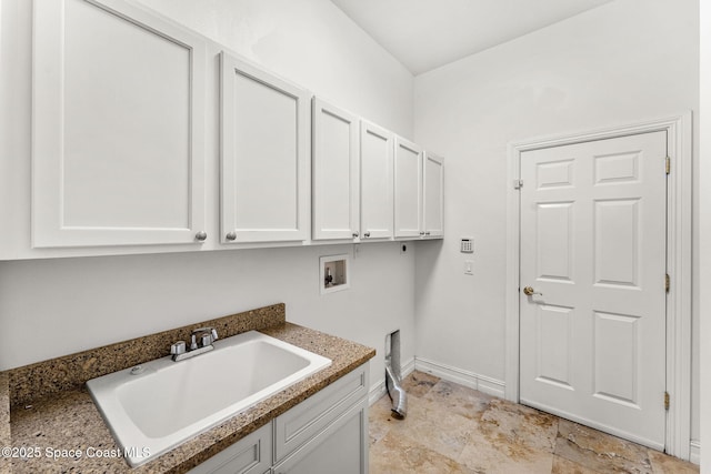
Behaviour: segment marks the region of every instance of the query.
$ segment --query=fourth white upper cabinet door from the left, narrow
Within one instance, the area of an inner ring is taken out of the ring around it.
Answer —
[[[361,120],[360,230],[364,239],[392,236],[392,153],[394,135]]]

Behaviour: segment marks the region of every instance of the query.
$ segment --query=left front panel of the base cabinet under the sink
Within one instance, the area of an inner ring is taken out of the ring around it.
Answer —
[[[272,424],[267,423],[189,474],[264,474],[271,467]]]

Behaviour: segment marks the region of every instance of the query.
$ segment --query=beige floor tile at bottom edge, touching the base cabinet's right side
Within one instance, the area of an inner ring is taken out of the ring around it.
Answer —
[[[404,435],[388,433],[370,450],[370,474],[477,474]]]

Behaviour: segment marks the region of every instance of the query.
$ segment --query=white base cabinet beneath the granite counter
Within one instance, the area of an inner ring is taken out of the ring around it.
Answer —
[[[365,363],[190,474],[368,474],[368,374]]]

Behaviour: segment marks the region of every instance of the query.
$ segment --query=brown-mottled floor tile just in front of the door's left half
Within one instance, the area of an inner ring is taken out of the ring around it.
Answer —
[[[491,441],[549,453],[555,447],[558,417],[528,406],[493,399],[481,416],[480,426]]]

